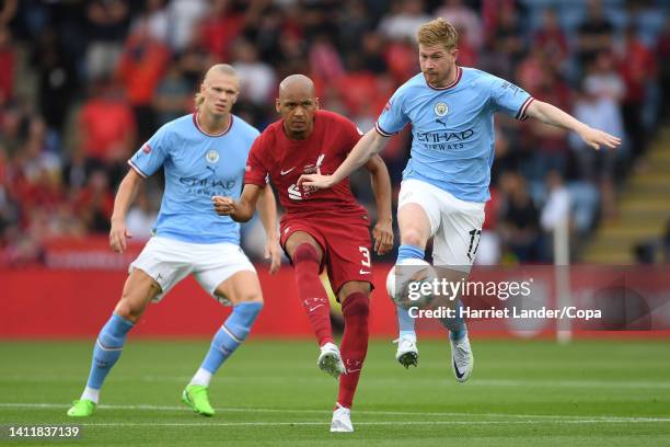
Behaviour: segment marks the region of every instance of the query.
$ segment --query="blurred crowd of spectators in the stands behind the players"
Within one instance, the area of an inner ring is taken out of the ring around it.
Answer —
[[[569,217],[576,247],[616,216],[616,194],[670,115],[670,20],[661,0],[4,0],[0,1],[0,264],[39,262],[57,238],[105,234],[126,160],[162,124],[193,112],[204,71],[232,64],[234,113],[263,129],[277,83],[314,79],[324,108],[368,130],[418,72],[414,34],[442,16],[476,67],[624,136],[596,152],[536,122],[496,119],[492,200],[478,262],[545,262]],[[409,129],[383,152],[394,188]],[[160,175],[128,216],[148,238]],[[373,210],[369,179],[353,177]],[[252,252],[257,229],[245,243]]]

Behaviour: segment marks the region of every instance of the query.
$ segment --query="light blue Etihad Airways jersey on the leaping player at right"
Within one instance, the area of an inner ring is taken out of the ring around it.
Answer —
[[[494,114],[525,119],[533,99],[519,87],[473,68],[434,88],[418,73],[401,85],[377,121],[385,137],[412,123],[412,152],[403,179],[417,179],[467,202],[490,197]]]

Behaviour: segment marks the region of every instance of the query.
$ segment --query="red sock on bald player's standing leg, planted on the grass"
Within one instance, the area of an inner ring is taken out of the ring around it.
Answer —
[[[339,376],[337,403],[347,409],[350,409],[354,403],[358,378],[368,353],[369,303],[368,296],[357,291],[346,297],[342,305],[345,332],[339,345],[339,353],[347,368],[347,374]]]

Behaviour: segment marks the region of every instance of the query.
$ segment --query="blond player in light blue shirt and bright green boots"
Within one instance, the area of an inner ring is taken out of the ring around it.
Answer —
[[[131,238],[125,218],[146,179],[161,167],[165,192],[153,237],[130,264],[122,297],[93,348],[93,362],[81,398],[69,416],[95,411],[103,381],[120,356],[127,333],[150,301],[160,300],[180,280],[193,274],[213,298],[233,307],[211,341],[209,352],[184,389],[182,400],[206,416],[215,411],[208,388],[212,375],[249,334],[263,308],[258,276],[240,248],[240,225],[212,210],[213,196],[240,197],[246,158],[258,136],[231,113],[240,80],[229,65],[211,67],[196,94],[196,112],[165,124],[132,156],[130,170],[116,194],[109,245],[123,253]],[[263,190],[261,219],[267,233],[270,272],[279,267],[277,210],[269,186]]]

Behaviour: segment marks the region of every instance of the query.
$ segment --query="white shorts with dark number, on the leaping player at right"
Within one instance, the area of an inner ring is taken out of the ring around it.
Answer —
[[[482,236],[484,203],[461,200],[416,179],[403,181],[397,202],[398,210],[417,204],[428,216],[434,265],[470,272]]]

